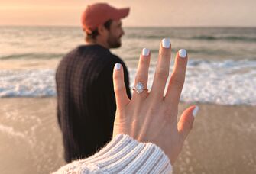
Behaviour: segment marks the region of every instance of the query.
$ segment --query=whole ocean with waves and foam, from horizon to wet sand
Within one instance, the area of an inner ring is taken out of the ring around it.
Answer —
[[[138,56],[147,47],[151,89],[164,37],[170,37],[173,55],[180,48],[189,55],[180,101],[256,105],[256,27],[126,27],[122,47],[112,53],[127,64],[131,88]],[[0,97],[55,96],[55,66],[37,69],[31,61],[56,63],[79,44],[84,44],[80,27],[0,27],[0,64],[22,61],[24,65],[0,70]]]

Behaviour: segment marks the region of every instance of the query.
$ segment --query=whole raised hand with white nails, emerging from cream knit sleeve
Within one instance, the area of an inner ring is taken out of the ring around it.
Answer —
[[[151,92],[134,90],[131,100],[125,91],[124,75],[121,64],[116,64],[113,79],[117,110],[113,136],[128,134],[140,142],[157,144],[174,163],[179,155],[184,140],[193,127],[194,117],[198,107],[191,106],[183,111],[177,122],[180,93],[186,74],[186,50],[180,50],[175,58],[173,73],[164,96],[170,69],[171,45],[169,39],[161,42],[154,82]],[[141,52],[135,85],[141,82],[147,88],[150,51]]]

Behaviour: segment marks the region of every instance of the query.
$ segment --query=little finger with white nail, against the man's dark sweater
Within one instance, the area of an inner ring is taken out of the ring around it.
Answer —
[[[114,82],[114,91],[115,91],[115,101],[117,108],[124,108],[125,105],[128,105],[129,98],[125,89],[124,82],[124,72],[122,65],[120,63],[115,64],[114,72],[113,72],[113,82]]]

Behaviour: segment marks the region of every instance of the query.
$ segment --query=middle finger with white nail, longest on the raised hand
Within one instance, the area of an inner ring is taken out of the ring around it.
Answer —
[[[154,74],[154,81],[151,89],[151,95],[157,98],[164,97],[164,88],[170,69],[170,52],[170,39],[164,38],[160,45],[157,68]]]

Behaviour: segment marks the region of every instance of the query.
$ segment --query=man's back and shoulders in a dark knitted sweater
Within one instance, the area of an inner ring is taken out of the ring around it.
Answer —
[[[58,66],[57,116],[67,162],[96,153],[112,138],[116,109],[112,80],[115,63],[124,66],[125,85],[131,98],[125,64],[104,47],[77,47]]]

